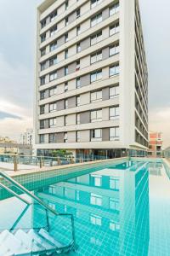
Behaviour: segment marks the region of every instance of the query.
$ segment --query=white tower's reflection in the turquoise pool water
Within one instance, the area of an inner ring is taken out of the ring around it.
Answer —
[[[71,178],[37,195],[58,212],[74,214],[77,253],[148,254],[149,172],[144,164],[127,162]]]

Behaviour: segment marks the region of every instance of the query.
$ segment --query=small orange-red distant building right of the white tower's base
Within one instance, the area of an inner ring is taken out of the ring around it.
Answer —
[[[162,133],[160,131],[150,131],[150,143],[148,155],[151,157],[161,157],[162,154]]]

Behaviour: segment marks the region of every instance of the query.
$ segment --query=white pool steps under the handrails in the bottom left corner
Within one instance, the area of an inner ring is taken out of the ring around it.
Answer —
[[[11,233],[3,230],[0,233],[0,256],[31,256],[31,255],[57,255],[68,253],[68,247],[64,247],[46,230],[17,230]]]

